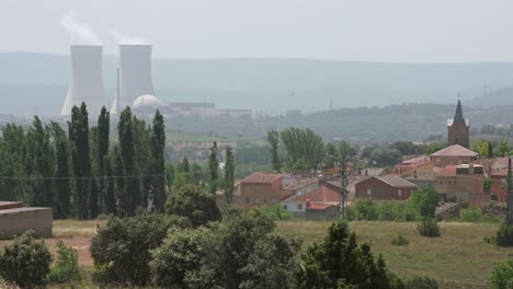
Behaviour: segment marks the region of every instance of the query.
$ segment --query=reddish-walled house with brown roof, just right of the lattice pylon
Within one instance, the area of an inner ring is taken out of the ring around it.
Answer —
[[[373,176],[355,184],[355,198],[406,200],[417,185],[397,175]]]

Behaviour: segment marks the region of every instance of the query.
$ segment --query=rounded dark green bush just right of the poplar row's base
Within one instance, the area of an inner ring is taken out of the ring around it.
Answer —
[[[215,196],[201,187],[186,185],[172,193],[166,203],[169,215],[187,218],[194,227],[220,220]]]

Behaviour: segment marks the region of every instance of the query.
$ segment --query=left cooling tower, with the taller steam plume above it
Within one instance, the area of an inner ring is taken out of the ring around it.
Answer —
[[[71,46],[71,79],[60,115],[71,115],[82,102],[90,115],[98,115],[106,103],[102,77],[102,46]]]

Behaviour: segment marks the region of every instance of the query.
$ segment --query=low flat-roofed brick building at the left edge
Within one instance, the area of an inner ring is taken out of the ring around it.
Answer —
[[[27,230],[52,238],[52,208],[24,207],[19,201],[0,201],[0,236],[12,238]]]

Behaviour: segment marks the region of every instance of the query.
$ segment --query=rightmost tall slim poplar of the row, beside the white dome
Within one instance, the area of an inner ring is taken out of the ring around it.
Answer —
[[[160,112],[157,109],[153,117],[153,135],[152,135],[152,154],[155,160],[153,171],[153,206],[159,212],[163,211],[166,204],[166,127],[164,120]]]

